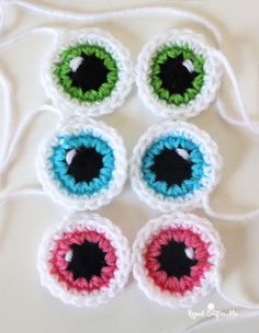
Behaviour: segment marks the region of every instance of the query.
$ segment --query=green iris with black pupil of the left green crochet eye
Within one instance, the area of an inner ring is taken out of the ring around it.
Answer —
[[[119,68],[112,55],[104,47],[91,44],[63,50],[53,72],[63,90],[80,103],[103,101],[119,80]]]

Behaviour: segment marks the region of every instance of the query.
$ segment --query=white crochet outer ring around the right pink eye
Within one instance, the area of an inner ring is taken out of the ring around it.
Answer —
[[[185,291],[183,296],[172,295],[168,290],[161,291],[153,279],[148,277],[147,269],[145,268],[144,253],[147,243],[154,236],[159,233],[159,231],[170,227],[191,229],[201,237],[202,241],[211,243],[207,249],[210,263],[212,264],[211,269],[204,274],[200,287],[194,287],[192,291]],[[192,305],[201,301],[202,298],[209,296],[216,287],[218,279],[221,279],[219,273],[223,266],[224,253],[225,250],[219,236],[209,220],[183,213],[164,215],[148,221],[147,225],[138,231],[133,244],[133,275],[138,283],[138,287],[151,300],[170,308],[190,308]]]

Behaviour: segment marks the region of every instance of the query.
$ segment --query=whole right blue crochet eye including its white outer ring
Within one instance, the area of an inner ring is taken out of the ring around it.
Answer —
[[[216,186],[221,164],[217,146],[195,126],[155,125],[134,149],[133,190],[154,209],[192,209]]]

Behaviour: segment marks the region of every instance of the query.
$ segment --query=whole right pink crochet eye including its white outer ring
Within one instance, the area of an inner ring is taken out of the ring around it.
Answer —
[[[212,225],[177,213],[150,220],[133,244],[133,273],[146,296],[171,308],[192,307],[216,286],[224,249]]]

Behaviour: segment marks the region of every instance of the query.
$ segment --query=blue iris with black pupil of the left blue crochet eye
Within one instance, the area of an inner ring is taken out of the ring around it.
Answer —
[[[114,154],[100,137],[87,133],[58,138],[49,158],[53,177],[68,194],[91,197],[108,188],[113,177]]]

